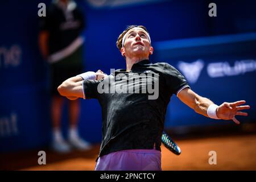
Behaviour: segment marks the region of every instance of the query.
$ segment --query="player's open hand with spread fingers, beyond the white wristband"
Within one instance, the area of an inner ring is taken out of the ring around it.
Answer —
[[[232,119],[235,123],[240,124],[240,121],[236,119],[236,115],[247,116],[248,114],[241,110],[250,109],[249,105],[241,106],[242,104],[245,104],[245,101],[224,102],[218,106],[217,117],[224,120]]]

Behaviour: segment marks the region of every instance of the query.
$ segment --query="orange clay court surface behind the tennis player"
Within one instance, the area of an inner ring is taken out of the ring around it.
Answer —
[[[162,145],[162,169],[167,170],[256,170],[256,134],[175,139],[181,148],[176,156]],[[38,164],[38,151],[1,154],[2,170],[94,170],[100,145],[89,151],[56,154],[46,149],[46,165]],[[210,165],[209,151],[217,152]]]

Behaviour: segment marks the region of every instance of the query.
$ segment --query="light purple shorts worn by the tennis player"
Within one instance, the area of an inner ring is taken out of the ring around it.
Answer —
[[[98,158],[95,171],[161,171],[161,152],[135,149],[112,152]]]

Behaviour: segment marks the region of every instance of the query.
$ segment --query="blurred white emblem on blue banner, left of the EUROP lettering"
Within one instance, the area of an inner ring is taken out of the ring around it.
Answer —
[[[177,67],[187,78],[188,82],[190,82],[191,84],[195,84],[200,76],[202,69],[204,68],[204,61],[201,59],[196,60],[192,63],[185,63],[183,61],[179,61]]]

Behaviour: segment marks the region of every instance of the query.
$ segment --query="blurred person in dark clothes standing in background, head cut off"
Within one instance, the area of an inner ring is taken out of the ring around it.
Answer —
[[[47,7],[47,15],[40,19],[39,47],[44,59],[49,63],[51,72],[51,118],[53,139],[51,146],[57,152],[69,152],[71,147],[87,150],[90,144],[79,137],[79,100],[68,100],[69,131],[68,142],[61,134],[61,115],[64,98],[57,92],[57,86],[67,78],[83,70],[81,36],[85,28],[82,11],[74,1],[57,0]]]

